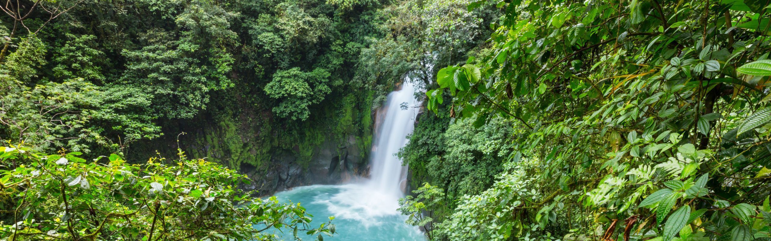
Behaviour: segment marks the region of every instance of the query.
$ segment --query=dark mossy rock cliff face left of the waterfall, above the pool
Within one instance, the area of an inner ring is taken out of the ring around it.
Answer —
[[[318,117],[322,121],[293,125],[277,124],[270,112],[249,111],[168,121],[163,125],[163,137],[133,144],[127,157],[146,160],[158,152],[174,158],[180,148],[187,158],[207,158],[237,169],[252,180],[241,188],[258,190],[259,195],[368,176],[372,144],[369,107],[334,108],[325,113]]]

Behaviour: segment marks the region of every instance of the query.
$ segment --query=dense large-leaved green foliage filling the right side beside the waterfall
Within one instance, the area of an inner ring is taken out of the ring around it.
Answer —
[[[769,239],[768,6],[497,2],[491,46],[427,92],[445,122],[419,124],[402,156],[449,190],[461,173],[438,164],[463,157],[421,140],[500,118],[512,154],[493,157],[503,171],[486,190],[446,199],[433,239]]]

